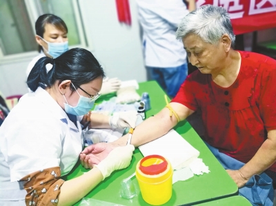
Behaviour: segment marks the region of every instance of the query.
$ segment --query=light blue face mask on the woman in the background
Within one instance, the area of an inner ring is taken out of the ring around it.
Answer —
[[[47,52],[47,54],[49,54],[53,58],[57,58],[58,56],[60,56],[61,54],[69,50],[68,41],[61,42],[61,43],[52,43],[52,42],[46,41],[42,37],[40,38],[48,44],[48,51],[46,50],[46,48],[43,48],[43,49]]]

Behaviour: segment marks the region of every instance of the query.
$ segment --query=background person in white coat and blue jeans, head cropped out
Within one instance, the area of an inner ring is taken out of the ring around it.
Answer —
[[[188,75],[187,54],[175,32],[181,19],[195,10],[195,0],[137,0],[137,6],[150,79],[174,97]]]

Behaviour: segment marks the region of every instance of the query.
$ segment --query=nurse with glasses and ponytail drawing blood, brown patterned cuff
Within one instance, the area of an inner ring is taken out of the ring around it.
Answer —
[[[112,171],[128,167],[134,147],[119,147],[105,161],[70,181],[83,148],[81,123],[110,127],[93,114],[103,70],[88,50],[75,48],[39,59],[24,95],[0,127],[0,205],[73,205]],[[84,118],[83,115],[86,115]]]

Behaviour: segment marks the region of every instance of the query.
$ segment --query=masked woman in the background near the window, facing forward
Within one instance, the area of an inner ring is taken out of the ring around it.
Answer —
[[[29,63],[26,74],[34,67],[34,64],[43,56],[57,58],[68,50],[68,28],[66,23],[54,14],[43,14],[35,22],[35,39],[39,45],[40,54]],[[121,86],[121,80],[117,78],[103,79],[101,94],[116,92]]]

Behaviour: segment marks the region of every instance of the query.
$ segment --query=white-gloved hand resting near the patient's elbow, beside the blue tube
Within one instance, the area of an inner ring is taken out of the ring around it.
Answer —
[[[137,121],[137,112],[135,110],[127,112],[118,112],[110,116],[109,125],[112,129],[115,128],[126,128],[132,127],[135,128]]]

